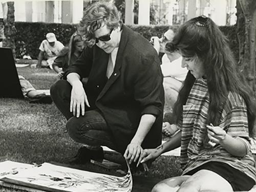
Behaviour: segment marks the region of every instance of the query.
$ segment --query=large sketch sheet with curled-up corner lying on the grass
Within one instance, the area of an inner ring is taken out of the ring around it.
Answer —
[[[1,166],[0,163],[0,169]],[[5,175],[0,180],[48,191],[132,191],[130,168],[125,176],[117,177],[43,163]]]

